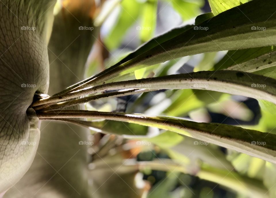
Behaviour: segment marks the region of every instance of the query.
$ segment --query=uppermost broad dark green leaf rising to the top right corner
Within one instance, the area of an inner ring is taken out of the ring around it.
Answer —
[[[148,65],[187,55],[269,46],[276,40],[275,5],[275,1],[250,1],[197,26],[172,30],[150,40],[119,63],[79,84],[99,84]],[[259,30],[264,27],[266,31]],[[79,84],[64,92],[78,87]]]

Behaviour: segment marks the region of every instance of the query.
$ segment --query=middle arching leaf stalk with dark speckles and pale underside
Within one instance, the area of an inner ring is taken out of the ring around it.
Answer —
[[[253,81],[254,79],[254,81]],[[266,83],[266,88],[254,87],[253,84]],[[102,84],[82,90],[70,92],[60,96],[52,96],[38,100],[34,106],[51,104],[82,97],[87,94],[95,94],[103,91],[139,89],[162,90],[162,89],[199,89],[224,92],[241,95],[256,99],[267,100],[276,104],[276,80],[261,75],[240,71],[203,71],[164,77],[145,78]]]

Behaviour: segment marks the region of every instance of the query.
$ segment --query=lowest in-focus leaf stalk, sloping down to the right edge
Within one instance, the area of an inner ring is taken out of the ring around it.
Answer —
[[[170,117],[146,117],[140,114],[86,110],[38,112],[37,116],[39,119],[62,119],[63,121],[80,123],[87,127],[91,126],[90,122],[71,120],[69,118],[107,119],[139,124],[147,127],[156,127],[246,153],[269,162],[276,162],[276,135],[231,125],[196,123]]]

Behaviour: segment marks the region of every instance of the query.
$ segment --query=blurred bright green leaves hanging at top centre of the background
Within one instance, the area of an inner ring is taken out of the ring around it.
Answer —
[[[141,3],[143,2],[143,3]],[[200,8],[204,5],[203,0],[163,0],[166,6],[171,5],[183,20],[189,20],[201,13]],[[137,34],[141,42],[150,40],[155,34],[158,0],[122,0],[118,8],[120,13],[112,27],[112,30],[104,39],[106,46],[113,50],[122,42],[129,28],[136,25]]]

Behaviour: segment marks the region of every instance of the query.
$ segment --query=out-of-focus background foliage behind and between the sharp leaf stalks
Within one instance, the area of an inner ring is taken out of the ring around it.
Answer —
[[[101,9],[93,12],[93,25],[100,28],[100,33],[95,37],[86,63],[86,77],[112,66],[155,36],[173,28],[195,24],[198,15],[209,13],[204,17],[210,18],[247,1],[224,2],[226,1],[104,1]],[[258,55],[272,49],[264,48],[261,52],[258,51]],[[224,69],[233,63],[250,60],[254,54],[246,50],[235,53],[221,51],[173,59],[119,76],[116,80]],[[241,54],[243,60],[239,60]],[[274,105],[205,90],[160,90],[104,98],[87,103],[86,108],[181,117],[270,133],[275,133],[276,127]],[[151,127],[132,129],[131,124],[126,126],[123,123],[114,126],[112,121],[98,124],[100,126],[97,127],[111,132],[131,129],[146,135],[119,137],[91,131],[94,145],[89,149],[89,168],[95,178],[91,181],[95,192],[97,191],[95,197],[129,197],[125,194],[129,191],[134,191],[137,197],[143,198],[276,197],[275,164],[170,131]],[[150,165],[142,163],[138,166],[139,162],[149,162]],[[133,163],[137,166],[132,166]],[[161,165],[163,168],[160,168]],[[152,170],[154,168],[156,170]],[[114,170],[116,174],[113,174]],[[129,188],[128,190],[120,187],[122,180],[127,184],[124,188]]]

